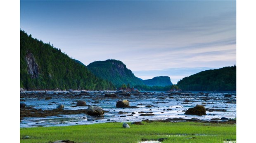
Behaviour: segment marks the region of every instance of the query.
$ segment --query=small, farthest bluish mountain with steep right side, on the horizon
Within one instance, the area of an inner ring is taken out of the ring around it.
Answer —
[[[173,85],[169,76],[157,76],[152,79],[143,80],[143,83],[148,86],[168,86]]]

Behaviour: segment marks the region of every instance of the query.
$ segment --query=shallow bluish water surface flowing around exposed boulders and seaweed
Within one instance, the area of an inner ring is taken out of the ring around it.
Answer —
[[[86,101],[87,105],[100,106],[104,111],[109,111],[104,114],[104,117],[93,117],[87,114],[60,115],[49,116],[46,118],[23,118],[20,122],[20,127],[50,127],[50,126],[69,126],[69,125],[88,125],[103,122],[135,122],[142,120],[164,120],[167,118],[198,118],[200,120],[211,120],[212,118],[236,118],[236,94],[232,93],[232,97],[224,97],[226,92],[209,92],[207,94],[192,94],[184,93],[181,95],[169,95],[169,93],[152,92],[141,95],[118,96],[115,98],[104,97],[103,91],[88,91],[88,95],[21,95],[21,102],[27,106],[32,106],[36,109],[52,110],[59,104],[65,106],[64,110],[87,109],[87,106],[75,106],[77,101]],[[229,93],[231,94],[231,93]],[[52,97],[46,100],[45,97]],[[130,106],[139,108],[116,108],[116,101],[127,99]],[[188,100],[189,102],[184,102]],[[192,108],[197,104],[202,104],[205,108],[225,109],[226,111],[206,111],[206,115],[185,115],[188,108]],[[152,107],[146,107],[151,105]],[[168,110],[166,110],[168,109]],[[172,109],[172,110],[170,110]],[[119,111],[126,112],[119,114]],[[152,112],[153,116],[140,116],[139,112]],[[134,112],[135,114],[131,114]],[[129,116],[133,115],[133,116]],[[110,121],[108,121],[110,120]]]

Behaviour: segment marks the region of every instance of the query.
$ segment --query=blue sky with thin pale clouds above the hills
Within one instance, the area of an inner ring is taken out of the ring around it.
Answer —
[[[20,0],[20,28],[88,65],[172,83],[236,64],[235,0]]]

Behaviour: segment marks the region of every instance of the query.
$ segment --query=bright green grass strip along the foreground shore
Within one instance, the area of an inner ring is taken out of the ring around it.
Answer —
[[[138,143],[142,138],[163,143],[223,143],[236,140],[236,125],[195,122],[143,122],[145,125],[102,123],[66,127],[21,128],[21,143],[49,143],[70,140],[76,143]],[[29,136],[25,139],[24,136]],[[194,138],[192,138],[194,137]]]

